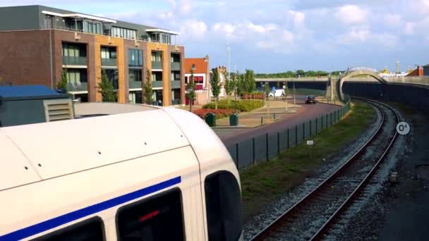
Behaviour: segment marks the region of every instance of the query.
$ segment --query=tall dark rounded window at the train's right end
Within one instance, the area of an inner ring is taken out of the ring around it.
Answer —
[[[243,229],[241,194],[232,173],[220,171],[205,178],[209,240],[238,240]]]

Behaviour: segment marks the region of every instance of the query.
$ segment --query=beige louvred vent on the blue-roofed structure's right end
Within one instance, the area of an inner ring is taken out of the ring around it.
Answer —
[[[43,105],[47,122],[73,119],[70,99],[47,99]]]

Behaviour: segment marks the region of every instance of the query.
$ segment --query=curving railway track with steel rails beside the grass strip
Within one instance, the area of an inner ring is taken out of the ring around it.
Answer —
[[[380,112],[381,121],[375,133],[330,177],[250,240],[321,240],[368,185],[397,138],[399,116],[380,102],[354,99],[365,101]]]

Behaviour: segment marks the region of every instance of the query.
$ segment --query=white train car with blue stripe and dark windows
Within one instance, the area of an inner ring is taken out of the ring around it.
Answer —
[[[179,109],[0,128],[0,240],[241,240],[224,144]]]

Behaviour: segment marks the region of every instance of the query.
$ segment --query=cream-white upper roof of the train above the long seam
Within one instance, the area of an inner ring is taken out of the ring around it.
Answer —
[[[0,191],[189,145],[201,168],[231,159],[198,116],[179,109],[143,108],[0,128]]]

